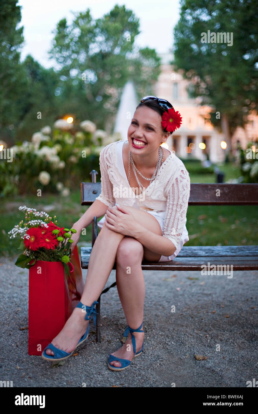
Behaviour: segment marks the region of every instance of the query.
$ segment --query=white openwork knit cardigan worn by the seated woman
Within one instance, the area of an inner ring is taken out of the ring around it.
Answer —
[[[120,140],[122,141],[122,140]],[[135,195],[128,180],[117,168],[116,142],[107,145],[99,154],[101,194],[96,200],[108,207],[133,206],[135,200],[141,210],[166,211],[163,236],[177,248],[185,225],[190,177],[183,162],[171,153],[163,162],[157,176],[140,195]]]

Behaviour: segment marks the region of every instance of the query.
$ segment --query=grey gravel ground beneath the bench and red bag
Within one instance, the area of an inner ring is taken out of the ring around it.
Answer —
[[[84,280],[87,270],[83,270]],[[91,322],[87,341],[63,366],[27,353],[29,270],[0,263],[0,380],[13,387],[246,387],[258,378],[258,272],[202,276],[144,271],[145,350],[124,371],[107,367],[126,320],[116,288],[101,298],[101,343]],[[107,286],[115,281],[111,272]],[[175,312],[171,312],[175,306]],[[220,346],[220,351],[218,349]],[[195,354],[206,356],[198,361]]]

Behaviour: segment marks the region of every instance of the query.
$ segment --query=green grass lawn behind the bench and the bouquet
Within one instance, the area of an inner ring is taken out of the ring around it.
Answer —
[[[201,168],[200,163],[185,161],[184,164],[189,171],[191,183],[215,182],[214,173],[197,173]],[[219,169],[225,173],[224,181],[241,175],[234,164],[224,164]],[[43,194],[42,197],[6,197],[0,206],[0,252],[4,256],[12,257],[20,253],[17,250],[19,241],[10,239],[7,233],[24,219],[24,213],[18,210],[21,205],[39,211],[46,209],[47,212],[49,206],[52,206],[53,211],[48,214],[56,215],[62,227],[71,227],[88,208],[80,205],[80,183],[78,190],[73,191],[69,197],[60,198],[53,194]],[[257,206],[189,206],[186,227],[190,240],[185,246],[258,245]],[[80,242],[91,242],[91,239],[90,225],[86,229],[86,235],[81,235]]]

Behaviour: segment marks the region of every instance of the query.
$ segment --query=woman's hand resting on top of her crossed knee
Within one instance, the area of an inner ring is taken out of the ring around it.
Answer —
[[[134,237],[139,224],[135,220],[132,212],[124,206],[109,207],[105,214],[106,226],[108,229]]]

